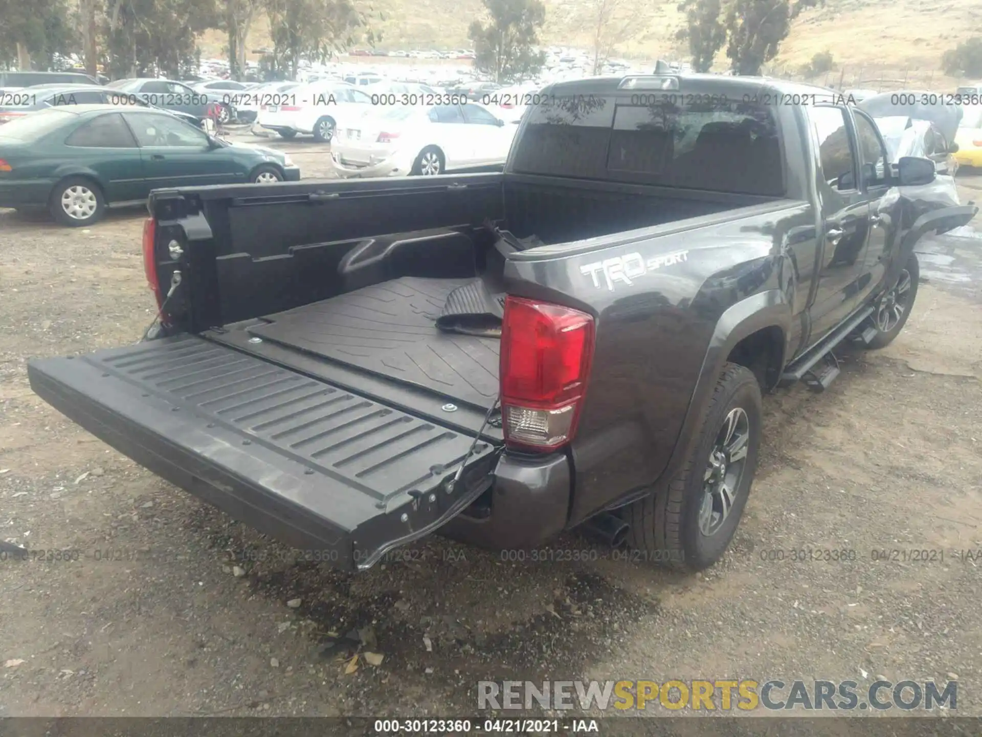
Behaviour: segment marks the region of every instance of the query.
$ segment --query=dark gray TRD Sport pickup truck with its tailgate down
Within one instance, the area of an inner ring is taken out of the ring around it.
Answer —
[[[437,530],[720,558],[761,394],[822,389],[973,205],[828,90],[641,76],[536,96],[504,172],[157,190],[151,339],[32,361],[109,445],[345,569]]]

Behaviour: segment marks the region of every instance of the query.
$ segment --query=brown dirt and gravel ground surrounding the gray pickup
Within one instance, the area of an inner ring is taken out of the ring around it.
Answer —
[[[324,155],[289,147],[307,173]],[[962,184],[970,199],[982,178]],[[982,570],[954,554],[982,548],[982,240],[925,245],[893,346],[846,352],[824,395],[765,399],[757,481],[707,573],[431,539],[348,576],[297,563],[31,393],[28,358],[135,342],[149,323],[142,214],[86,230],[0,215],[0,539],[81,552],[0,563],[0,716],[447,715],[476,710],[479,679],[876,676],[956,677],[958,711],[982,714]],[[791,561],[807,548],[854,559]],[[873,559],[914,549],[944,560]],[[346,672],[353,629],[380,665]]]

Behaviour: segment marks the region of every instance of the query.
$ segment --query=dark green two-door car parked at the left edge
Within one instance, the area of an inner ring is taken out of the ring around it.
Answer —
[[[299,179],[282,151],[219,141],[159,110],[66,105],[0,126],[0,207],[46,207],[74,227],[154,189]]]

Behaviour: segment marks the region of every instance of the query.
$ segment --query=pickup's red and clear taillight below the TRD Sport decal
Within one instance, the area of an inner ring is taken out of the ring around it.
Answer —
[[[573,439],[593,338],[586,312],[518,297],[505,301],[501,405],[510,447],[549,450]]]

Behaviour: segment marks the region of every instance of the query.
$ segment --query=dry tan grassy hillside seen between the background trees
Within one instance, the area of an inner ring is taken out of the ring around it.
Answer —
[[[588,48],[590,3],[584,0],[545,0],[546,27],[542,40]],[[469,45],[467,26],[481,15],[480,0],[373,0],[375,28],[382,31],[381,48],[456,48]],[[646,16],[646,18],[644,17]],[[684,58],[685,48],[673,36],[682,25],[676,2],[638,6],[639,27],[618,48],[629,57]],[[826,0],[824,7],[799,18],[782,47],[775,67],[797,68],[819,51],[831,51],[846,74],[862,71],[867,78],[876,67],[908,68],[939,74],[941,55],[982,28],[982,0]],[[202,38],[206,55],[222,55],[225,40],[212,31]],[[265,18],[250,33],[250,48],[269,45]],[[721,58],[717,65],[726,67]],[[916,76],[916,75],[915,75]]]

